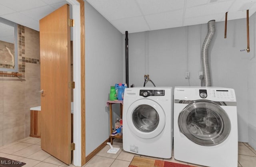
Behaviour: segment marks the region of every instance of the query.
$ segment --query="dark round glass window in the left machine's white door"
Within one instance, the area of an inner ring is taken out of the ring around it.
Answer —
[[[132,122],[141,132],[152,132],[158,126],[159,115],[152,106],[142,104],[132,113]]]

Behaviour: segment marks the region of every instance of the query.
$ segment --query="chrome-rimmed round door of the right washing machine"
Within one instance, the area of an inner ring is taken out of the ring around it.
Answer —
[[[199,145],[218,145],[231,129],[226,112],[210,100],[188,104],[179,114],[178,126],[182,134]]]

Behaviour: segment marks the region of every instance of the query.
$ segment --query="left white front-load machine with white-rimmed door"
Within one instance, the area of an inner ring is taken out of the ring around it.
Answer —
[[[172,87],[124,90],[124,151],[159,158],[172,156]]]

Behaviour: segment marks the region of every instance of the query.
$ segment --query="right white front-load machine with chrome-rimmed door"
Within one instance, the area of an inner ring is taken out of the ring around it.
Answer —
[[[234,89],[174,88],[174,158],[210,167],[237,166]]]

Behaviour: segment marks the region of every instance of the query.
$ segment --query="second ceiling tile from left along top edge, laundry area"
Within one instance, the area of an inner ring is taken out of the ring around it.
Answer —
[[[144,15],[181,10],[184,0],[136,0]]]

